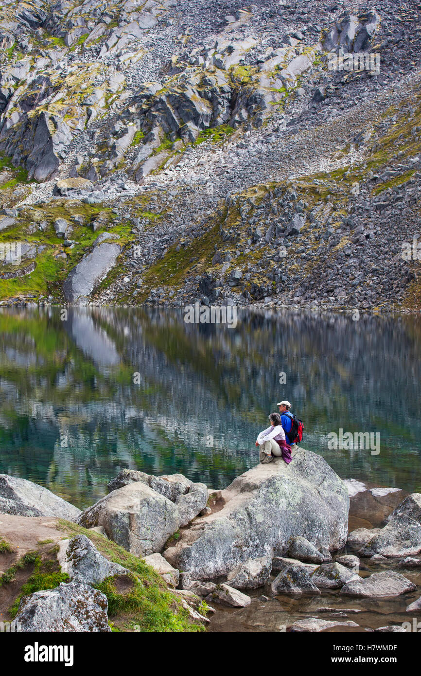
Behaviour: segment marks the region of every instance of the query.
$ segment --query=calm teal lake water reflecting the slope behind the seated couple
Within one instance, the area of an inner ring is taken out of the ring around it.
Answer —
[[[2,308],[0,333],[0,473],[80,508],[124,467],[225,487],[284,398],[343,479],[421,491],[420,318]],[[340,428],[380,433],[380,453],[329,450]]]

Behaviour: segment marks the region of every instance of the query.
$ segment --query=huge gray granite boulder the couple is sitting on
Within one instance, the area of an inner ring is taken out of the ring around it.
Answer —
[[[316,549],[337,550],[347,539],[347,487],[324,458],[303,449],[289,465],[280,458],[251,468],[222,498],[220,511],[185,529],[164,552],[191,579],[228,575],[250,558],[282,556],[298,535]]]

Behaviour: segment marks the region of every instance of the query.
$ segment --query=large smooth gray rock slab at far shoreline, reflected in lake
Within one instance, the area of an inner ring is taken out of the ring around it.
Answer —
[[[86,254],[64,281],[66,300],[72,303],[86,302],[95,287],[114,268],[120,251],[118,244],[103,242]]]

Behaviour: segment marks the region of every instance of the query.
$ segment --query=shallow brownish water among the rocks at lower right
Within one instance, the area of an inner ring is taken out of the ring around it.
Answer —
[[[350,500],[349,531],[360,527],[382,527],[385,525],[385,515],[390,514],[406,495],[405,491],[399,491],[375,497],[370,493],[370,484],[368,484],[366,490],[357,493]],[[341,552],[335,552],[332,558],[335,559],[338,554],[357,554],[357,551],[343,548]],[[360,575],[367,577],[372,573],[396,571],[417,585],[416,592],[394,598],[362,599],[342,596],[339,594],[339,589],[322,589],[321,594],[317,596],[314,594],[301,596],[282,594],[273,597],[270,594],[270,583],[268,583],[265,587],[256,589],[255,592],[247,592],[251,596],[251,604],[247,608],[217,606],[216,614],[210,616],[209,631],[283,632],[288,631],[289,627],[298,620],[316,617],[330,622],[351,621],[357,625],[356,627],[343,625],[328,627],[324,629],[327,633],[360,633],[380,627],[402,626],[403,623],[410,623],[411,629],[407,629],[409,633],[409,631],[414,631],[414,624],[420,621],[419,611],[418,613],[406,612],[406,608],[420,598],[421,568],[398,568],[398,560],[389,559],[386,562],[374,563],[370,559],[361,558]],[[274,575],[272,579],[273,577]]]

